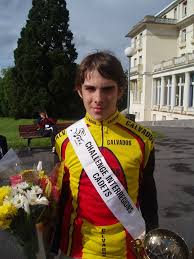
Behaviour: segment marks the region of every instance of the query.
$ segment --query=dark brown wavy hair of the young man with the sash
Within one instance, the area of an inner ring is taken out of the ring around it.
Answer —
[[[97,70],[101,76],[115,81],[119,88],[125,89],[127,78],[121,62],[108,51],[97,51],[86,56],[77,69],[75,90],[84,83],[88,72]]]

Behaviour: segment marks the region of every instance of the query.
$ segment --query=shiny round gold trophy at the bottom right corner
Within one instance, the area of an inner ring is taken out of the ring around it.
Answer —
[[[142,241],[133,241],[137,259],[188,259],[189,249],[184,239],[167,229],[153,229]]]

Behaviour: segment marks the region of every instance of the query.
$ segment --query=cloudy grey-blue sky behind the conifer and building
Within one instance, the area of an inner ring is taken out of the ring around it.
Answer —
[[[125,37],[145,15],[155,15],[172,0],[66,0],[69,28],[78,52],[76,62],[95,50],[113,52],[124,67],[130,39]],[[22,27],[32,0],[0,0],[0,69],[13,66]]]

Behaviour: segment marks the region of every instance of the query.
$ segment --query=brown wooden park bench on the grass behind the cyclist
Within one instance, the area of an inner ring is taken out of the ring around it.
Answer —
[[[67,128],[75,121],[66,121],[66,122],[58,122],[56,123],[57,130],[60,132],[61,130]],[[37,125],[19,125],[19,135],[22,139],[28,140],[28,149],[30,150],[30,143],[32,139],[35,138],[48,138],[49,136],[41,136],[39,131],[37,130]]]

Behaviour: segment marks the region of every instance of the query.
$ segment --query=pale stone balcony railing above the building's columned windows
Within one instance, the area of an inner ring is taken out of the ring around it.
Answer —
[[[184,66],[188,63],[194,63],[194,53],[187,53],[184,56],[174,57],[169,60],[162,61],[161,63],[155,64],[153,72],[159,72],[177,66]]]

